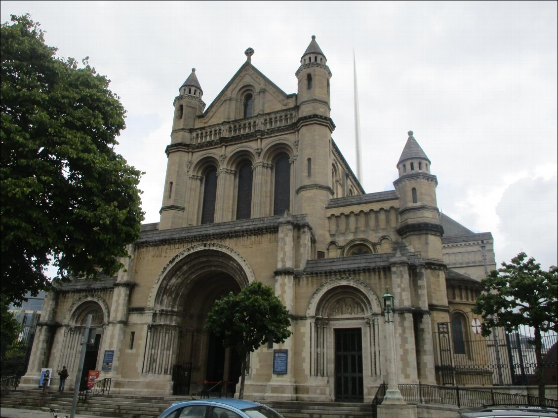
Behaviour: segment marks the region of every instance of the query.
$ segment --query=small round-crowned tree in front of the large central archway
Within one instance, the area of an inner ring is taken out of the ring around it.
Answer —
[[[240,390],[244,396],[244,380],[248,354],[272,339],[283,343],[291,336],[291,321],[287,308],[273,293],[273,289],[254,281],[237,295],[232,292],[215,301],[208,313],[206,327],[223,338],[225,347],[233,348],[242,359]]]

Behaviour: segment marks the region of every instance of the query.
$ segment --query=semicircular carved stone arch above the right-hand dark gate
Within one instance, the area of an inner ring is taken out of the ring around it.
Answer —
[[[382,304],[371,286],[362,280],[340,277],[326,281],[312,294],[306,308],[306,315],[308,317],[323,317],[324,309],[330,307],[335,300],[339,299],[340,293],[343,293],[343,295],[353,294],[354,299],[362,304],[364,316],[382,312]]]

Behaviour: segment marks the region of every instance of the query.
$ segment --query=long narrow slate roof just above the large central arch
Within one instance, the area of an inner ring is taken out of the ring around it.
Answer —
[[[137,245],[150,244],[160,241],[187,241],[200,239],[207,236],[235,236],[247,235],[266,230],[277,230],[278,221],[282,215],[267,216],[264,218],[250,218],[230,222],[205,223],[204,225],[186,226],[175,229],[142,230]],[[291,215],[295,225],[308,225],[306,214]]]

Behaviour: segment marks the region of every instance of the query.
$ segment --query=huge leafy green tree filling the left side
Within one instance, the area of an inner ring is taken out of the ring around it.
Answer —
[[[56,277],[112,275],[137,240],[141,172],[115,152],[124,110],[87,59],[55,57],[30,16],[1,27],[0,292],[18,304]]]

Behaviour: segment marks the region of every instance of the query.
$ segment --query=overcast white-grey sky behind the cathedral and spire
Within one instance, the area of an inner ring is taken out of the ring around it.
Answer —
[[[439,181],[438,206],[492,232],[498,264],[519,251],[557,263],[557,2],[2,1],[30,13],[57,56],[108,76],[127,109],[118,152],[146,174],[146,222],[158,222],[172,101],[196,68],[209,106],[252,64],[287,94],[311,36],[328,59],[333,138],[356,172],[353,50],[363,179],[393,189],[415,138]]]

